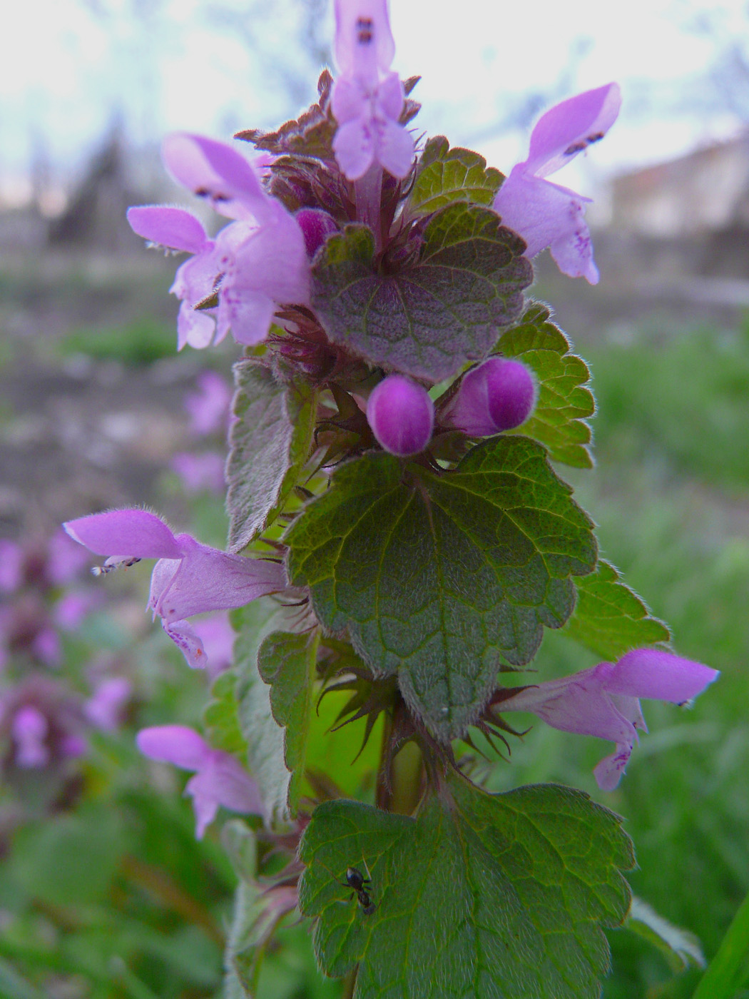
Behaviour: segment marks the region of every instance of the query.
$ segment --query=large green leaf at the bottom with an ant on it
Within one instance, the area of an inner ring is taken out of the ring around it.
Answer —
[[[413,819],[320,805],[301,847],[303,913],[324,970],[359,963],[356,999],[598,999],[603,926],[629,907],[621,820],[556,785],[489,795],[453,777]],[[372,879],[367,914],[342,885]]]

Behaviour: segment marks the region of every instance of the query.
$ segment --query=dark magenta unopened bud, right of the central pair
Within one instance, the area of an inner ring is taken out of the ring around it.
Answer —
[[[469,437],[489,437],[524,424],[535,404],[535,382],[525,365],[489,358],[464,376],[441,423]]]

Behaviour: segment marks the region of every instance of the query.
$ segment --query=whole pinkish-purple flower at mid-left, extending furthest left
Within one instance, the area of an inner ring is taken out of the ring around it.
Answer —
[[[74,540],[109,555],[104,571],[141,558],[158,558],[151,575],[149,607],[191,666],[205,666],[200,637],[185,619],[204,610],[241,607],[258,596],[284,589],[283,566],[245,558],[201,544],[190,534],[173,534],[145,509],[114,509],[69,520]]]

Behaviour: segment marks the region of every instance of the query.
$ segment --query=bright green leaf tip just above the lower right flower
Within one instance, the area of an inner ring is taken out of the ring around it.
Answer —
[[[668,627],[620,581],[610,562],[599,561],[595,572],[576,585],[577,603],[567,633],[598,655],[615,660],[630,648],[671,640]]]

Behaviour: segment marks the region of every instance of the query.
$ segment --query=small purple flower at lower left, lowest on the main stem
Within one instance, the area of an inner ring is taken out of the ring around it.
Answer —
[[[243,814],[263,813],[260,790],[247,770],[234,756],[213,749],[194,729],[184,725],[143,728],[138,732],[136,742],[141,752],[151,759],[196,771],[188,781],[185,793],[193,796],[198,839],[216,818],[219,805]]]

